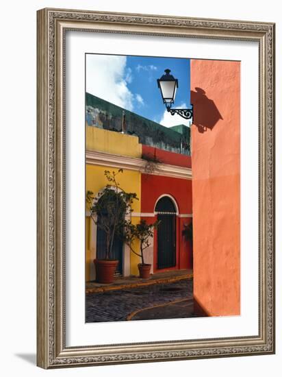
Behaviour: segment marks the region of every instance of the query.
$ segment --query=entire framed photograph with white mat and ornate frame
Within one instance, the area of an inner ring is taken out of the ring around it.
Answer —
[[[274,353],[274,24],[38,11],[37,364]]]

